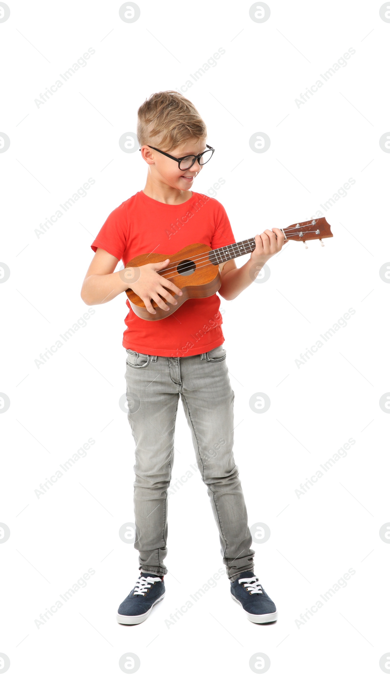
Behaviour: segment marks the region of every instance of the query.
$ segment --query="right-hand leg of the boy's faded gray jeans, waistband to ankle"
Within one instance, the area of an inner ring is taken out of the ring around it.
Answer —
[[[225,357],[220,346],[180,358],[180,393],[220,533],[226,573],[233,581],[243,571],[253,571],[255,552],[250,548],[247,509],[233,457],[234,393]]]

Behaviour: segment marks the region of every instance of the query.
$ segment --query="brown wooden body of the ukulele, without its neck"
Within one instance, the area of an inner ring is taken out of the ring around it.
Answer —
[[[154,300],[151,300],[151,305],[155,310],[155,314],[151,314],[147,311],[145,303],[137,293],[134,293],[132,289],[127,289],[126,295],[132,311],[141,319],[155,322],[169,317],[190,298],[206,298],[214,295],[220,288],[221,274],[219,265],[214,265],[209,260],[210,251],[212,249],[206,244],[190,244],[188,247],[180,249],[177,254],[141,254],[141,256],[129,260],[125,268],[141,267],[147,263],[160,263],[169,258],[166,267],[167,272],[165,272],[165,269],[162,270],[160,276],[166,276],[166,279],[169,279],[182,291],[182,296],[177,296],[167,289],[168,293],[173,295],[177,301],[177,305],[168,304],[169,310],[162,310]]]

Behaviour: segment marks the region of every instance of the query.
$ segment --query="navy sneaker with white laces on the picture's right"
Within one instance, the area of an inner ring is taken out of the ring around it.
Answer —
[[[230,594],[245,610],[247,619],[251,622],[264,624],[278,619],[274,602],[264,592],[253,571],[245,571],[237,580],[230,582]]]

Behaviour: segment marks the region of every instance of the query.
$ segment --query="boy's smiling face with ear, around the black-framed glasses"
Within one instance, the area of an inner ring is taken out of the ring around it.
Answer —
[[[203,152],[203,150],[206,150],[206,143],[205,139],[191,139],[170,150],[160,147],[157,143],[155,147],[169,153],[174,158],[183,158],[185,155],[198,155]],[[172,188],[176,188],[176,190],[191,189],[193,179],[201,170],[201,166],[197,160],[195,160],[195,164],[191,168],[179,169],[178,162],[167,158],[166,155],[158,153],[147,145],[142,147],[141,152],[144,160],[149,164],[149,172],[151,172],[153,178],[170,185]]]

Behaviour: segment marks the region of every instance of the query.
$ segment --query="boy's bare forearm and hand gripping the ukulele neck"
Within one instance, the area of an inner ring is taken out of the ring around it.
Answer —
[[[279,228],[266,230],[262,235],[255,235],[256,248],[247,262],[237,268],[235,260],[228,260],[221,270],[222,284],[218,293],[226,300],[233,300],[241,291],[249,287],[255,280],[255,272],[262,269],[269,258],[281,251],[285,236]]]

